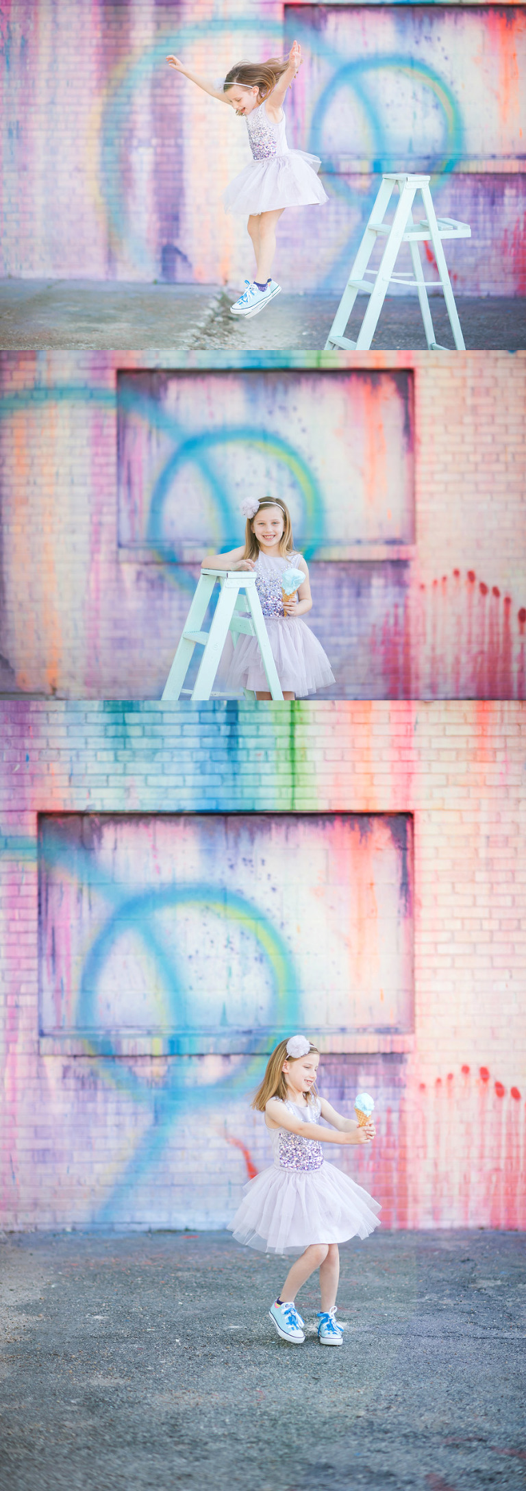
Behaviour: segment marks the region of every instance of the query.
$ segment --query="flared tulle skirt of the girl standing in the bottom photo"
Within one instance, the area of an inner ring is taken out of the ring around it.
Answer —
[[[228,1230],[259,1252],[304,1252],[311,1242],[349,1242],[378,1227],[378,1202],[338,1170],[285,1170],[276,1164],[244,1185]]]

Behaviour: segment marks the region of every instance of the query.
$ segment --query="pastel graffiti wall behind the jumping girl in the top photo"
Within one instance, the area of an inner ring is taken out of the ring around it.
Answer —
[[[279,277],[338,289],[378,173],[417,167],[472,227],[449,249],[456,288],[525,294],[525,10],[486,3],[6,0],[3,273],[241,283],[252,248],[222,192],[244,124],[165,55],[219,83],[292,36],[291,143],[322,157],[329,204],[285,216]]]

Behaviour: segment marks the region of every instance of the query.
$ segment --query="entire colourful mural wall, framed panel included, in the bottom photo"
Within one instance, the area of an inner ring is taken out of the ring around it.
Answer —
[[[265,1053],[307,1020],[323,1096],[376,1096],[338,1163],[383,1224],[525,1224],[522,705],[0,723],[4,1226],[225,1226],[270,1160]]]

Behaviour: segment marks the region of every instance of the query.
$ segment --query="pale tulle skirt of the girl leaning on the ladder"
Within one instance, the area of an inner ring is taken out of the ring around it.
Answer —
[[[322,643],[305,626],[301,616],[265,616],[271,653],[282,684],[282,693],[316,693],[328,689],[335,677]],[[241,635],[234,649],[228,635],[222,661],[221,681],[225,689],[258,689],[268,693],[268,683],[255,637]]]

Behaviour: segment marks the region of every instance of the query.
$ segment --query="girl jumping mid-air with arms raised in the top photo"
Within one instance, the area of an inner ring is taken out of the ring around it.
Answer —
[[[168,57],[170,67],[192,83],[221,98],[246,121],[252,164],[246,166],[226,186],[226,212],[246,212],[247,230],[256,256],[255,280],[244,280],[243,295],[231,306],[232,316],[256,316],[280,285],[270,271],[276,253],[276,227],[285,207],[304,207],[328,201],[317,180],[320,161],[304,151],[289,151],[285,134],[283,98],[301,67],[301,48],[294,42],[286,61],[271,57],[268,63],[237,63],[226,73],[222,88],[195,78],[177,57]]]

